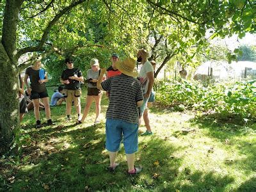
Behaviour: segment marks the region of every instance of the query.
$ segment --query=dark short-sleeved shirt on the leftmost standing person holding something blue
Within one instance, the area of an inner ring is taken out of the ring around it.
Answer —
[[[35,70],[32,67],[26,68],[26,72],[30,79],[30,86],[33,92],[42,93],[47,92],[45,83],[40,84],[39,81],[39,69]]]

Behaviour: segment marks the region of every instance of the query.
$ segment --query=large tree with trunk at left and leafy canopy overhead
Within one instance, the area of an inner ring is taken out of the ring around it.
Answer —
[[[0,153],[10,148],[13,130],[19,129],[17,76],[29,65],[18,64],[24,54],[103,46],[134,55],[148,44],[152,29],[160,36],[174,30],[164,42],[172,52],[186,52],[204,45],[207,29],[212,38],[255,31],[255,1],[249,0],[3,0],[0,14]]]

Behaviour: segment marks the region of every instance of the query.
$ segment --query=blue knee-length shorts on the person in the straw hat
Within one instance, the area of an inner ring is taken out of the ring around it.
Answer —
[[[106,149],[117,152],[124,135],[125,154],[134,154],[138,151],[138,124],[124,120],[107,118],[106,120]]]

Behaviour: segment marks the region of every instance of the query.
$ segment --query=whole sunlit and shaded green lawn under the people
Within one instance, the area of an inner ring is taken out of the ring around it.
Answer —
[[[62,105],[52,108],[57,125],[36,130],[29,112],[22,122],[22,154],[0,160],[0,191],[256,191],[256,125],[158,107],[150,111],[154,136],[139,137],[136,165],[143,172],[135,177],[125,173],[122,146],[120,166],[109,173],[104,148],[107,105],[104,97],[102,123],[95,127],[94,104],[83,125],[65,122]]]

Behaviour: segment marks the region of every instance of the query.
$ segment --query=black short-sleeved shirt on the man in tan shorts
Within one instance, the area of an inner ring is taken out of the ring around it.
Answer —
[[[79,68],[72,68],[72,69],[66,68],[65,70],[63,70],[61,74],[61,79],[65,81],[68,79],[68,77],[72,77],[72,76],[82,77],[83,74]],[[77,81],[75,79],[68,79],[68,81],[69,81],[69,84],[65,84],[64,86],[66,90],[79,90],[81,88],[80,81]]]

